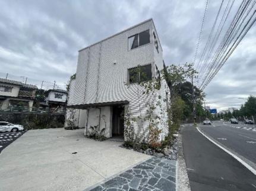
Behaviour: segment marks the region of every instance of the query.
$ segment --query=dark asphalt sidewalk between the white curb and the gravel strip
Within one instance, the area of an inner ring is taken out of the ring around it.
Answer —
[[[256,176],[192,125],[181,131],[191,190],[256,190]]]

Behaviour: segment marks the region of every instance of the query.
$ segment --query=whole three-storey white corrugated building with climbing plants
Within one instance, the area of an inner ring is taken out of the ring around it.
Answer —
[[[127,140],[127,130],[132,127],[134,138],[141,140],[144,135],[148,137],[150,124],[144,103],[153,102],[154,121],[162,130],[159,140],[164,139],[168,133],[169,89],[165,80],[160,80],[163,67],[162,46],[152,19],[83,48],[78,52],[76,79],[69,89],[66,119],[73,108],[80,112],[77,121],[83,119],[86,135],[96,126],[105,128],[105,137]],[[138,95],[138,79],[159,79],[160,89],[154,95]],[[140,121],[135,120],[138,117]],[[128,118],[134,119],[130,125]]]

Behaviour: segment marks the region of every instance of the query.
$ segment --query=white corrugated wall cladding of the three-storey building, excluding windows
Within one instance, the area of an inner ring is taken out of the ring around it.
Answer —
[[[128,37],[146,30],[150,31],[150,43],[128,51]],[[81,50],[78,55],[77,76],[69,91],[68,105],[127,100],[132,117],[146,116],[145,103],[155,98],[142,95],[143,90],[138,95],[141,87],[137,84],[129,85],[128,69],[138,64],[151,63],[152,73],[156,75],[154,64],[157,64],[159,70],[163,68],[162,48],[159,42],[159,53],[156,52],[153,31],[156,33],[153,21],[149,20]],[[162,93],[162,89],[159,93]],[[99,124],[97,120],[99,109],[90,109],[88,127]],[[143,127],[137,122],[133,125],[135,134],[140,135],[143,129],[148,134],[148,122],[144,122]]]

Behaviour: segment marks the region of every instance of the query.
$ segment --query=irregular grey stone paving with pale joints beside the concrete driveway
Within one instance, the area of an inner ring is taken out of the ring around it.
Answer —
[[[153,157],[95,187],[99,190],[176,190],[176,161]]]

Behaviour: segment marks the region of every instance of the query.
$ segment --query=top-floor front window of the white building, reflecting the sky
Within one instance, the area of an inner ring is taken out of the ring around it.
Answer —
[[[128,50],[150,43],[149,30],[128,37]]]

